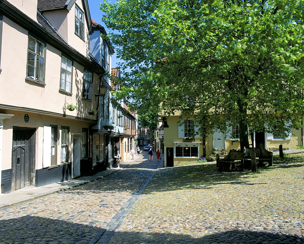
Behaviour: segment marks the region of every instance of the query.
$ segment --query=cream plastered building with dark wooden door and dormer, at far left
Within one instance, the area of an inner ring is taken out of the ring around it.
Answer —
[[[106,70],[90,54],[92,32],[86,0],[0,2],[1,193],[94,170],[91,127]]]

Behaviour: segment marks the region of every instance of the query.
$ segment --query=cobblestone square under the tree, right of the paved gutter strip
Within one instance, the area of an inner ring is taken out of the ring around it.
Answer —
[[[303,243],[299,161],[255,174],[159,170],[109,243]]]

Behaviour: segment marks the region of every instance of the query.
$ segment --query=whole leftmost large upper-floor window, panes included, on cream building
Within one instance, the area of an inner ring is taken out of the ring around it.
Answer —
[[[45,43],[29,36],[26,77],[44,82]]]

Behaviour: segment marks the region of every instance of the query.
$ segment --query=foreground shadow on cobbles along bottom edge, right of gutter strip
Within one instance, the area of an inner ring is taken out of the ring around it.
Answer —
[[[197,230],[199,232],[199,230]],[[195,232],[193,232],[195,234]],[[195,238],[190,235],[159,233],[159,232],[116,232],[116,238],[109,243],[123,243],[132,240],[132,243],[303,243],[301,235],[288,235],[264,231],[231,230],[217,232]]]

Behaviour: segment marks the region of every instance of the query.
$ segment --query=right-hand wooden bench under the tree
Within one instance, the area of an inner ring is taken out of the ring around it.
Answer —
[[[273,165],[273,153],[267,151],[264,146],[260,143],[259,147],[250,147],[245,148],[244,147],[244,164],[245,168],[250,168],[251,165],[251,153],[255,153],[256,160],[258,161],[258,164],[261,165],[262,162],[267,162],[269,166]],[[248,164],[250,163],[250,164]]]

